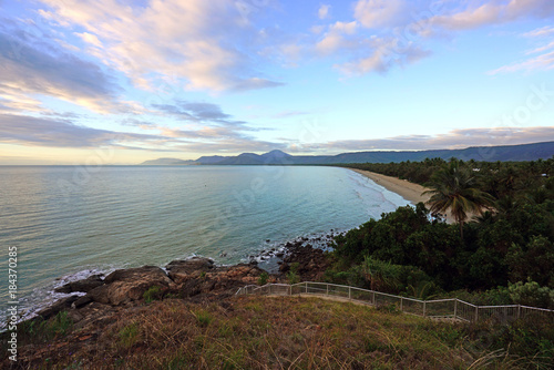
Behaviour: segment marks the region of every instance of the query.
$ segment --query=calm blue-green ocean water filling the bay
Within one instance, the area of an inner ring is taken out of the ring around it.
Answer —
[[[17,246],[21,309],[95,271],[192,255],[235,264],[267,239],[346,230],[408,204],[352,171],[304,166],[0,166],[0,299]]]

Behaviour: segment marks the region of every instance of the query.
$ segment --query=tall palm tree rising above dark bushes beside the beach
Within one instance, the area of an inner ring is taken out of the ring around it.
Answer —
[[[475,186],[475,177],[466,168],[460,167],[460,162],[452,158],[450,163],[431,176],[431,194],[427,202],[431,213],[442,213],[450,209],[455,222],[460,225],[460,236],[463,240],[463,223],[468,213],[483,214],[483,210],[494,204],[492,195],[480,191]]]

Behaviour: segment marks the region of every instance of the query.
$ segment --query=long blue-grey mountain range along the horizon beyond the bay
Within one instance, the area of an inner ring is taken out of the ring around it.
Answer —
[[[175,165],[175,164],[205,164],[205,165],[318,165],[342,163],[390,163],[425,158],[449,160],[455,157],[463,161],[536,161],[554,156],[554,142],[502,145],[502,146],[473,146],[464,150],[433,150],[433,151],[377,151],[342,153],[338,155],[290,155],[283,151],[271,151],[265,154],[243,153],[237,156],[203,156],[196,161],[182,161],[174,158],[160,158],[146,161],[143,165]],[[173,162],[172,162],[173,161]]]

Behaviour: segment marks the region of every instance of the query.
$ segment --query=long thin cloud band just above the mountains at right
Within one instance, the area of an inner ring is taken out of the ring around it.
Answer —
[[[469,146],[515,145],[554,141],[554,127],[461,129],[439,135],[401,135],[375,140],[342,140],[317,144],[334,151],[422,151]],[[309,145],[307,145],[309,147]]]

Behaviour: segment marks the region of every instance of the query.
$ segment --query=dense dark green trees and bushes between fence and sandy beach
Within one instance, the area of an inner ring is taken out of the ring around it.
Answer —
[[[476,300],[554,308],[554,158],[349,167],[429,186],[431,210],[400,207],[337,237],[327,280],[422,297],[489,290]],[[458,225],[434,217],[445,209]]]

